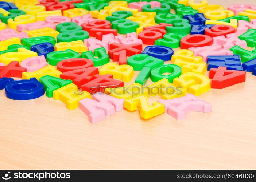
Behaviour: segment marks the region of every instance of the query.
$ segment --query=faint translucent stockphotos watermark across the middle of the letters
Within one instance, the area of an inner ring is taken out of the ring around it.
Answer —
[[[147,86],[127,86],[127,87],[115,87],[116,85],[109,85],[107,86],[108,91],[105,91],[105,94],[113,94],[113,95],[123,95],[123,94],[128,94],[133,96],[139,95],[139,94],[148,94],[148,95],[172,95],[172,94],[177,94],[181,95],[183,93],[182,87],[173,87],[173,86],[164,86],[160,85],[159,87],[152,86],[152,87],[147,87]],[[81,86],[82,87],[82,86]],[[94,86],[94,87],[89,87],[90,93],[97,93],[102,90],[102,87],[106,86]],[[115,89],[119,88],[119,89]],[[82,94],[82,89],[78,88],[77,91],[74,92],[74,94],[81,95]]]

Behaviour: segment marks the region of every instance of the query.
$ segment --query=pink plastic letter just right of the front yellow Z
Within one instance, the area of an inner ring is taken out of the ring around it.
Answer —
[[[168,115],[178,120],[185,119],[186,114],[190,111],[212,112],[211,104],[199,99],[193,94],[187,94],[184,97],[176,99],[160,99],[158,102],[165,105],[165,110]]]

